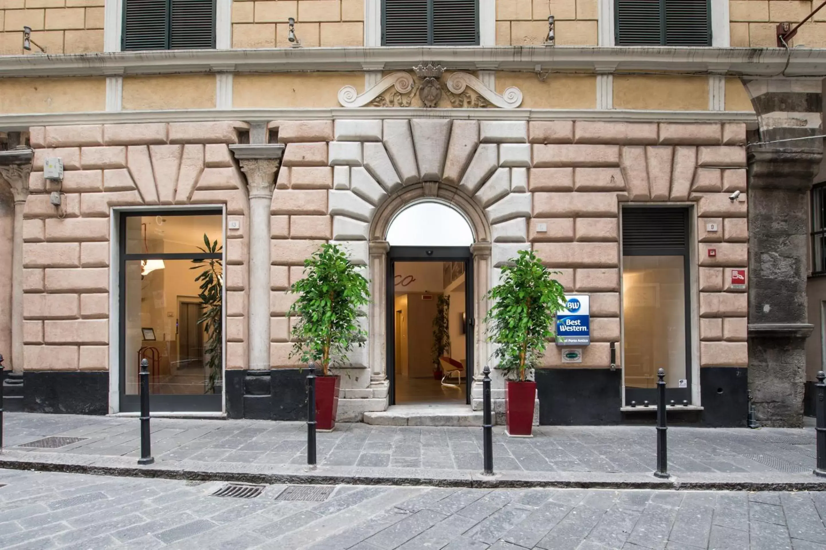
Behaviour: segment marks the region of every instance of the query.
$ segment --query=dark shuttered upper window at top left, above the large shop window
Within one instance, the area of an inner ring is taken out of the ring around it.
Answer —
[[[215,0],[124,0],[123,50],[215,47]]]

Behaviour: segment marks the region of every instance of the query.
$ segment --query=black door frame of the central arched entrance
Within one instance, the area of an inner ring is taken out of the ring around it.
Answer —
[[[465,264],[465,403],[471,403],[473,345],[473,256],[469,246],[391,246],[387,251],[387,334],[385,337],[390,405],[396,405],[396,262],[463,262]]]

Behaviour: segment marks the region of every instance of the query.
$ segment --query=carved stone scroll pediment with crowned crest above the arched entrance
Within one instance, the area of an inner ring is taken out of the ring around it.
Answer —
[[[443,91],[456,108],[513,109],[522,103],[519,88],[506,88],[500,95],[469,73],[452,73],[442,82],[444,67],[440,65],[419,65],[414,70],[416,77],[404,71],[388,74],[362,94],[353,86],[345,86],[339,90],[339,103],[343,107],[411,107],[418,92],[422,107],[437,107]]]

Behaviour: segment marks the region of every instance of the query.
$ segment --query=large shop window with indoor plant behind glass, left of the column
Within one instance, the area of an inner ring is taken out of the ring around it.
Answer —
[[[221,214],[125,213],[120,235],[121,410],[138,409],[141,359],[153,410],[221,410]]]

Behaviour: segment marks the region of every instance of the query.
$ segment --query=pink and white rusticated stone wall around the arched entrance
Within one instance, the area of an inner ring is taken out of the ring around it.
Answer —
[[[472,197],[486,213],[494,281],[517,250],[534,249],[561,272],[568,292],[591,294],[593,344],[577,367],[608,367],[609,343],[619,341],[621,204],[695,205],[692,303],[700,365],[744,367],[748,300],[730,280],[733,268],[748,266],[745,130],[741,123],[280,123],[279,140],[287,149],[272,208],[273,365],[294,364],[287,358],[285,316],[292,299],[283,289],[301,276],[304,258],[320,243],[336,242],[354,262],[367,264],[377,208],[408,185],[439,181]],[[731,201],[734,191],[742,195]],[[710,222],[719,231],[706,231]],[[537,230],[540,223],[546,232]],[[564,367],[555,352],[549,350],[545,367]],[[357,393],[348,389],[344,396]]]

